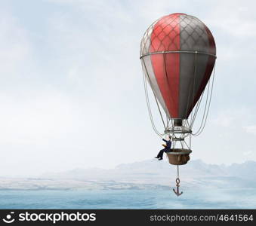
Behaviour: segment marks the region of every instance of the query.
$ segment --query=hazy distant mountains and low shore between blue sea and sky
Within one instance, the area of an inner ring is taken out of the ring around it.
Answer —
[[[177,166],[164,161],[144,160],[116,166],[114,169],[75,169],[63,173],[45,173],[39,178],[0,178],[0,190],[45,189],[170,189],[175,186]],[[180,166],[180,185],[190,188],[256,189],[256,162],[230,166],[191,160]]]

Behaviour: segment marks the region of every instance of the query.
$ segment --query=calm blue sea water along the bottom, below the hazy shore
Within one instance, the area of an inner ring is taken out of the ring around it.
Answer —
[[[0,191],[0,209],[256,209],[256,189]]]

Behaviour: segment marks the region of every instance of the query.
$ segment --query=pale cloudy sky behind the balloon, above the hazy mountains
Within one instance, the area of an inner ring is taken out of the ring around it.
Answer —
[[[211,109],[191,159],[256,160],[254,8],[246,0],[1,1],[0,176],[156,156],[162,141],[147,113],[140,40],[177,12],[202,20],[217,45]]]

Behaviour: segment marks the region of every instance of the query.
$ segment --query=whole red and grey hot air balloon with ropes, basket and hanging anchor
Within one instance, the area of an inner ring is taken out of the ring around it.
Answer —
[[[211,31],[196,17],[169,14],[156,20],[144,33],[140,43],[147,106],[153,128],[159,136],[171,136],[169,163],[177,165],[177,195],[179,193],[179,165],[190,160],[191,136],[198,136],[205,127],[211,102],[216,60],[216,47]],[[212,78],[212,79],[211,79]],[[156,129],[147,86],[162,119],[164,131]],[[206,89],[206,87],[208,87]],[[207,90],[207,91],[205,91]],[[202,122],[193,133],[199,106],[205,96]]]

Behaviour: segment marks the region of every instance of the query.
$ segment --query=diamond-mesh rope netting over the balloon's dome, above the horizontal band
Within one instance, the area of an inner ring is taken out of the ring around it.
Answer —
[[[144,33],[140,42],[140,56],[172,50],[204,52],[208,46],[205,25],[196,17],[165,16],[156,20]]]

